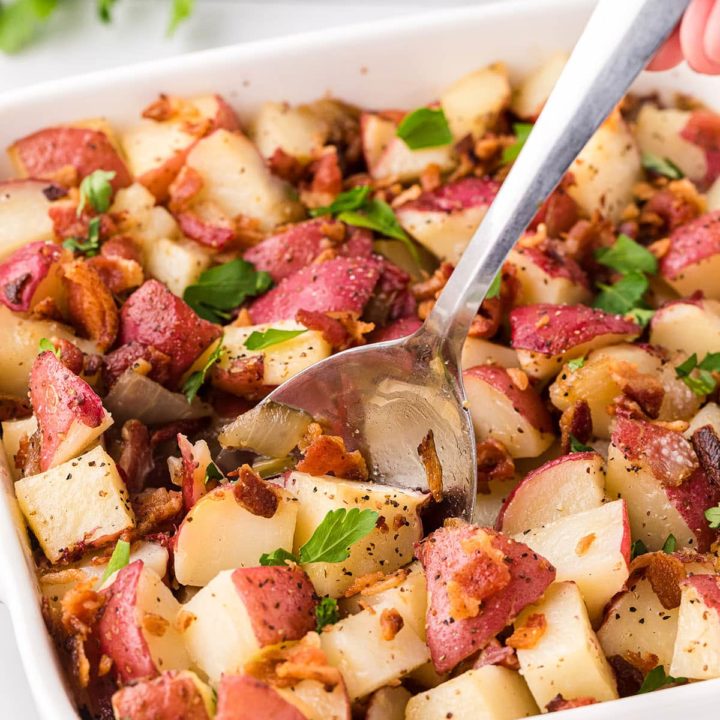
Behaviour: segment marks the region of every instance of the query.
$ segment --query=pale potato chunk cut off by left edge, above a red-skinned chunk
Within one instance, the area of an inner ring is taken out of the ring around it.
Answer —
[[[43,194],[49,184],[39,180],[0,182],[0,258],[28,243],[53,239],[50,201]]]

